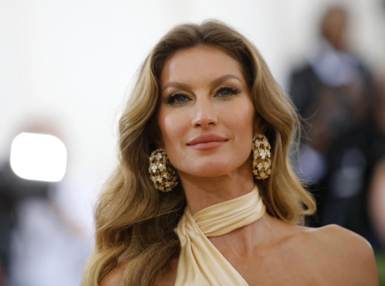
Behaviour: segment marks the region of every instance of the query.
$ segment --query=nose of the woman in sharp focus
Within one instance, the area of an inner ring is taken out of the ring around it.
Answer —
[[[197,100],[194,106],[192,126],[209,127],[218,124],[218,117],[214,110],[213,103],[208,100]]]

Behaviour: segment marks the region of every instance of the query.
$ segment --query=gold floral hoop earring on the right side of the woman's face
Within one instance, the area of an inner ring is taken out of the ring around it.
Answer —
[[[253,138],[253,174],[259,180],[271,174],[270,144],[265,135],[258,134]]]

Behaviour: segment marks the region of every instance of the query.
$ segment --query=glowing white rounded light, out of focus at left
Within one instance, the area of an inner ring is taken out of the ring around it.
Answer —
[[[13,139],[10,164],[23,179],[58,182],[65,174],[66,163],[67,150],[53,135],[23,132]]]

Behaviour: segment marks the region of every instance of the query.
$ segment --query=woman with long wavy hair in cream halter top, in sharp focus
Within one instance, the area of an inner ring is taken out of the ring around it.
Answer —
[[[171,30],[119,122],[83,285],[375,285],[365,239],[298,225],[315,204],[288,159],[297,126],[246,38]]]

